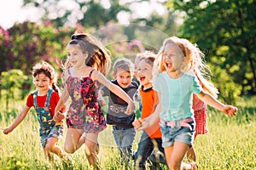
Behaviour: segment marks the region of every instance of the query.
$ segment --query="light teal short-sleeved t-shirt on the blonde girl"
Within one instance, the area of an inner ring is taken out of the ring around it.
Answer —
[[[194,115],[192,109],[192,94],[202,90],[198,79],[189,74],[173,79],[167,72],[162,72],[155,78],[154,90],[160,93],[163,121],[177,121]]]

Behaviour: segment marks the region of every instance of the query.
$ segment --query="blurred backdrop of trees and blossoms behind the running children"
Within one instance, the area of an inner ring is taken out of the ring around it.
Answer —
[[[234,104],[239,96],[256,94],[256,1],[23,2],[25,7],[43,11],[43,15],[40,23],[16,23],[7,30],[0,27],[0,72],[20,69],[24,75],[30,75],[32,65],[45,60],[61,74],[56,60],[66,58],[70,36],[83,26],[88,33],[102,39],[113,60],[119,57],[133,60],[145,49],[157,53],[166,37],[188,38],[206,54],[212,82],[220,90],[221,98]],[[0,94],[2,76],[1,79]],[[31,86],[21,88],[29,91]]]

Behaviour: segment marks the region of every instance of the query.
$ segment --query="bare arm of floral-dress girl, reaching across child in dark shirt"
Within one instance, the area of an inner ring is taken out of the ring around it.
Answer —
[[[126,113],[130,114],[132,111],[134,111],[134,103],[130,96],[122,90],[122,88],[119,88],[119,86],[113,84],[112,82],[108,81],[104,75],[102,75],[101,72],[93,71],[91,74],[91,78],[93,80],[97,80],[98,82],[101,82],[102,85],[106,86],[113,94],[118,95],[121,99],[124,99],[125,102],[128,104]]]

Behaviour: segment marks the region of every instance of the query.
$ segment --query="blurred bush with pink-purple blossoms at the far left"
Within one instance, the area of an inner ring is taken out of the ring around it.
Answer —
[[[21,69],[30,74],[32,65],[40,60],[55,64],[63,59],[66,44],[74,29],[55,29],[48,23],[38,25],[32,22],[15,24],[0,35],[1,71]]]

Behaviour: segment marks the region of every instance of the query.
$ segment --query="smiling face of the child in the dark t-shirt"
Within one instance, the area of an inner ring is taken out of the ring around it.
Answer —
[[[121,88],[128,88],[131,84],[131,72],[129,71],[118,69],[114,78]]]

